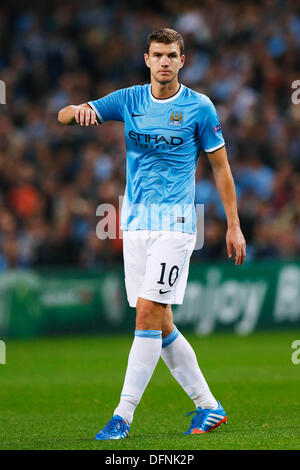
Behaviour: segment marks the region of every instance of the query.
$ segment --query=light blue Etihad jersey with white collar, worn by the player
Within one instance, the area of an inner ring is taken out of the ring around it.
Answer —
[[[99,122],[125,123],[126,189],[122,230],[196,233],[199,152],[225,145],[210,99],[184,85],[156,99],[151,85],[117,90],[88,103]]]

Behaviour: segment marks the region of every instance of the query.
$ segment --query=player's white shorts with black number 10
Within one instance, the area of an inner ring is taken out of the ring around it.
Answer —
[[[123,256],[127,299],[138,297],[182,304],[196,234],[167,231],[124,231]]]

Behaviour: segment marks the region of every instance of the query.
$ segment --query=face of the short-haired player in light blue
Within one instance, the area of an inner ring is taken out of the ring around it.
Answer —
[[[151,42],[149,54],[145,54],[145,62],[150,69],[151,77],[159,83],[170,83],[177,79],[178,72],[183,67],[184,55],[180,55],[177,42],[163,44]]]

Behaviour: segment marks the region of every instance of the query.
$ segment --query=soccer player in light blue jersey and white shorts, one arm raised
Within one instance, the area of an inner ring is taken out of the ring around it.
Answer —
[[[211,431],[227,420],[211,393],[196,355],[173,323],[181,304],[196,243],[195,171],[204,150],[227,218],[228,256],[241,265],[246,244],[240,229],[233,177],[214,105],[178,81],[184,65],[182,36],[168,28],[148,37],[150,84],[117,90],[58,115],[63,124],[125,124],[126,189],[121,215],[125,285],[136,307],[135,337],[120,402],[97,440],[128,436],[134,411],[160,358],[195,404],[186,434]]]

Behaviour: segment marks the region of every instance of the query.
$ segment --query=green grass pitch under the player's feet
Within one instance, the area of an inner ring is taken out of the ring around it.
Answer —
[[[130,437],[94,440],[119,400],[133,336],[8,341],[0,365],[0,449],[299,449],[300,331],[186,335],[228,425],[186,436],[194,409],[162,360]]]

